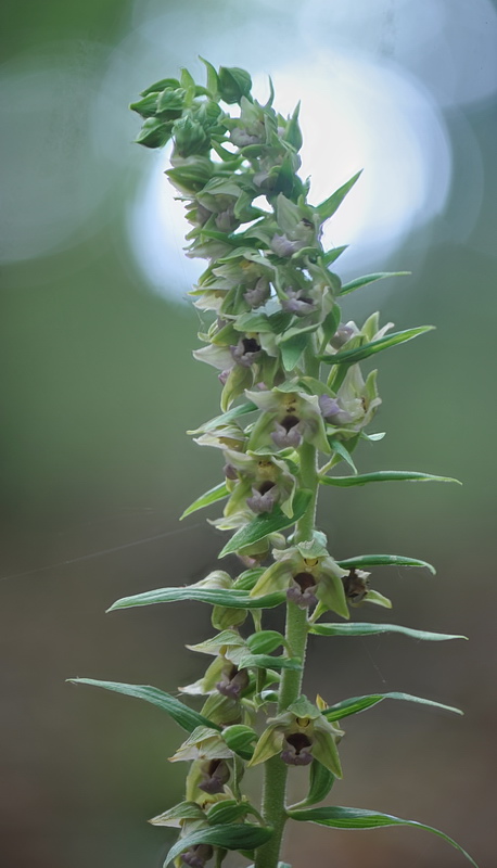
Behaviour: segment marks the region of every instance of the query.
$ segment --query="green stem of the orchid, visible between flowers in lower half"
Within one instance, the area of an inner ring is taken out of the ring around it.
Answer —
[[[309,506],[302,519],[297,522],[295,540],[303,542],[311,539],[316,520],[316,501],[318,492],[317,450],[309,443],[300,447],[301,455],[301,485],[311,493]],[[304,674],[305,654],[307,646],[307,611],[300,609],[295,603],[286,604],[285,637],[289,653],[301,661],[301,669],[283,669],[279,690],[278,713],[284,712],[301,694],[302,677]],[[265,765],[265,781],[263,792],[263,816],[268,826],[272,826],[273,833],[267,844],[257,850],[255,868],[277,868],[284,824],[286,821],[285,792],[289,767],[279,756],[273,756]]]

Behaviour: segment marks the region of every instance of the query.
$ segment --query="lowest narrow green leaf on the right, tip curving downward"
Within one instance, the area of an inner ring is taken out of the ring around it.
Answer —
[[[448,834],[441,832],[438,829],[434,829],[432,826],[425,826],[424,822],[418,822],[417,820],[403,820],[400,817],[393,817],[391,814],[380,814],[378,810],[366,810],[360,807],[339,807],[337,805],[333,805],[332,807],[314,807],[304,810],[289,810],[288,814],[292,820],[317,822],[319,826],[329,826],[331,829],[378,829],[381,826],[412,826],[416,829],[424,829],[426,832],[432,832],[448,844],[451,844],[453,847],[466,856],[473,868],[479,868],[469,853],[449,838]]]

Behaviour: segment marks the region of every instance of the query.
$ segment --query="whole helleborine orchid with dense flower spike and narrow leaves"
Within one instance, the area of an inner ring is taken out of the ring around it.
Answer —
[[[230,533],[220,558],[237,556],[233,576],[215,570],[201,582],[126,597],[110,611],[199,600],[212,607],[216,630],[196,646],[209,665],[176,699],[153,687],[72,679],[151,702],[187,731],[170,757],[189,770],[184,801],[154,817],[179,829],[165,866],[218,868],[238,851],[255,868],[277,868],[288,820],[334,829],[416,826],[434,832],[475,866],[443,832],[390,814],[336,805],[315,807],[342,777],[342,722],[384,699],[447,709],[406,693],[374,693],[328,705],[301,693],[306,644],[316,636],[399,633],[429,641],[462,638],[394,624],[349,621],[349,609],[392,607],[371,580],[378,565],[424,567],[399,554],[336,560],[316,526],[321,485],[390,481],[455,482],[412,471],[359,473],[353,452],[380,405],[377,371],[360,362],[432,327],[392,332],[379,316],[362,327],[343,322],[342,296],[383,278],[374,273],[342,284],[330,270],[344,247],[324,251],[323,224],[359,173],[317,206],[298,177],[298,106],[289,118],[251,94],[248,73],[206,61],[206,85],[187,69],[148,88],[131,108],[143,118],[138,142],[173,141],[169,181],[191,225],[187,256],[207,260],[191,292],[204,319],[194,350],[218,371],[221,414],[200,425],[196,443],[220,450],[224,481],[199,497],[183,516],[226,500],[212,522]],[[235,106],[234,114],[230,106]],[[405,272],[400,272],[405,273]],[[344,470],[336,473],[341,464]],[[265,629],[266,609],[286,607],[284,635]],[[328,612],[337,621],[322,621]],[[202,698],[200,711],[187,700]],[[460,713],[457,709],[449,711]],[[243,793],[244,776],[264,766],[262,805]],[[285,803],[292,766],[309,767],[308,792]],[[286,866],[286,868],[289,868]]]

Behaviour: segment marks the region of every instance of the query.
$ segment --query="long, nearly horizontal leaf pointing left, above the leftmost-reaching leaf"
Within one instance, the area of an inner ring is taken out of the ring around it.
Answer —
[[[180,600],[196,600],[211,605],[226,605],[229,609],[273,609],[285,599],[284,591],[267,593],[265,597],[250,597],[243,590],[222,590],[218,588],[158,588],[133,597],[123,597],[107,609],[132,609],[135,605],[153,605],[155,603],[174,603]]]

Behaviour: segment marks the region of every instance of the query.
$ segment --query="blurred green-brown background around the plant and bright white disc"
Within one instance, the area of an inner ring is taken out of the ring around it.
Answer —
[[[438,15],[431,40],[406,42],[410,16],[422,22],[430,9]],[[199,677],[202,661],[183,644],[209,635],[206,608],[104,610],[128,593],[201,578],[220,542],[202,514],[178,523],[218,480],[217,457],[184,436],[215,413],[218,383],[191,358],[197,317],[181,302],[186,280],[165,273],[158,293],[132,253],[132,212],[154,157],[132,144],[139,124],[127,103],[179,65],[200,72],[197,54],[266,73],[301,49],[305,61],[307,25],[321,31],[321,56],[344,44],[354,56],[357,46],[410,80],[423,69],[421,90],[433,85],[453,155],[448,197],[390,245],[380,268],[371,260],[369,270],[413,276],[357,293],[345,312],[362,320],[380,299],[398,328],[437,327],[381,357],[387,437],[362,447],[360,469],[464,483],[324,492],[321,526],[337,557],[397,551],[437,565],[435,578],[378,571],[394,613],[357,617],[471,641],[315,637],[306,691],[332,702],[402,690],[464,709],[457,718],[385,703],[349,718],[345,778],[333,795],[442,828],[481,866],[494,864],[497,78],[483,49],[496,9],[385,0],[366,14],[351,0],[347,10],[317,0],[2,4],[0,847],[9,868],[154,868],[174,840],[146,819],[182,795],[183,769],[166,762],[179,730],[152,707],[64,681],[175,692]],[[447,81],[455,98],[444,100]],[[469,98],[472,82],[483,85]],[[333,141],[326,144],[332,159]],[[374,175],[374,164],[367,169]],[[254,773],[250,786],[258,786]],[[296,771],[294,792],[302,786]],[[438,840],[403,829],[300,827],[284,855],[294,868],[463,864]]]

